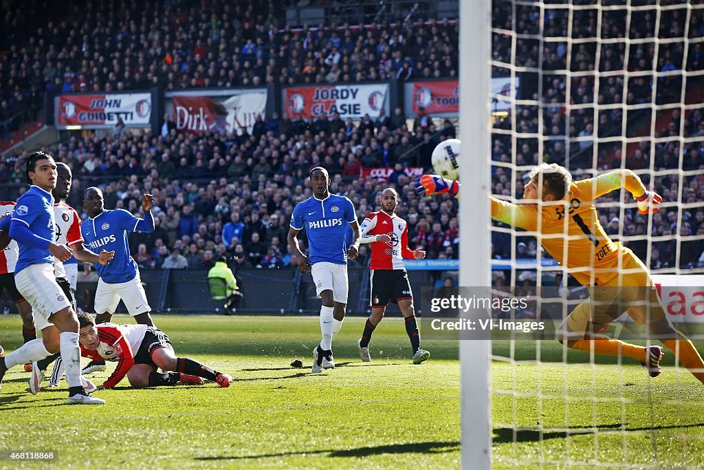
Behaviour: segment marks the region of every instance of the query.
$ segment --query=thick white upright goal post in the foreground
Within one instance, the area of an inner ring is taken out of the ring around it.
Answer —
[[[491,0],[460,0],[460,285],[490,286]],[[486,229],[482,229],[486,228]],[[460,341],[462,468],[491,468],[489,340]]]

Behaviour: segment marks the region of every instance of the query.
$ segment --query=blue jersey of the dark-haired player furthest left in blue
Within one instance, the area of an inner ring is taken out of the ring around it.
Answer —
[[[17,200],[12,220],[24,223],[35,236],[53,243],[54,196],[51,192],[42,190],[41,187],[30,186],[30,189]],[[15,265],[15,274],[30,264],[54,264],[54,256],[49,253],[49,249],[29,247],[20,242],[18,246],[20,253]]]

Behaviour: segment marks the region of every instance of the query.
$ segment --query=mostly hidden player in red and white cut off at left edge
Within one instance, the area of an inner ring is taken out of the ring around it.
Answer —
[[[9,216],[14,210],[14,202],[0,201],[0,218]],[[7,236],[7,240],[10,240],[8,233],[4,235]],[[5,245],[5,243],[0,245]],[[19,247],[15,240],[10,240],[6,246],[0,246],[0,248],[2,248],[0,249],[0,294],[3,290],[7,290],[17,306],[17,310],[20,312],[20,318],[22,319],[22,338],[24,342],[36,340],[37,329],[34,328],[32,307],[15,286],[15,264],[17,263]]]

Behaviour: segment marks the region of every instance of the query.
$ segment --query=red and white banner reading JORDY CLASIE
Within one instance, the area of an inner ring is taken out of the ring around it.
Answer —
[[[285,90],[286,111],[289,116],[303,118],[339,113],[340,118],[378,118],[389,94],[388,83],[371,85],[337,85],[295,87]]]

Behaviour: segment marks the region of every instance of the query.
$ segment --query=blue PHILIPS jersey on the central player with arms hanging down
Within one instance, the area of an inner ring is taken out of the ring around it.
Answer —
[[[310,197],[294,207],[291,227],[306,229],[310,262],[347,264],[346,230],[357,221],[352,202],[344,196],[329,194],[325,199]]]

